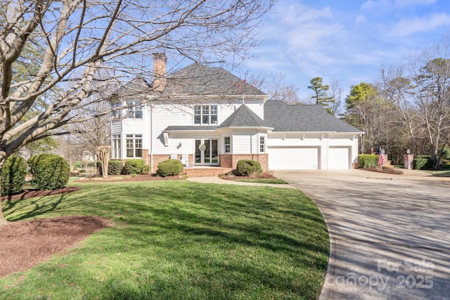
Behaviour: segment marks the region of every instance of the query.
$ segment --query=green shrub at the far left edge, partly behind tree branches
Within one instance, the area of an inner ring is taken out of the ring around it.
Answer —
[[[22,192],[27,176],[27,161],[18,155],[8,157],[1,169],[1,195]]]

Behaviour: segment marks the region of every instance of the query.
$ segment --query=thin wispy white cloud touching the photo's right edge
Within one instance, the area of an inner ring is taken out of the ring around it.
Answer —
[[[392,37],[405,37],[416,32],[430,32],[438,27],[449,26],[450,15],[446,13],[435,13],[423,18],[404,19],[389,30]]]

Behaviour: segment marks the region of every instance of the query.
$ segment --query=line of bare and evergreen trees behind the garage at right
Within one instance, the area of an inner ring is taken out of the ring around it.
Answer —
[[[316,104],[364,131],[359,152],[383,148],[395,164],[402,164],[409,149],[414,155],[429,155],[432,168],[450,159],[450,40],[413,53],[404,63],[383,67],[378,79],[350,87],[341,101],[342,87],[314,77],[309,99],[296,96],[297,86],[280,81],[269,84],[273,98],[297,104]],[[293,96],[294,95],[294,96]]]

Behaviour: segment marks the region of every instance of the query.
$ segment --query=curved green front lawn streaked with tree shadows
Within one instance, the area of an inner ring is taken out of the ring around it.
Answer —
[[[83,190],[4,204],[4,213],[11,221],[95,215],[115,226],[0,279],[0,299],[319,295],[328,233],[319,209],[298,190],[187,181],[72,185]]]

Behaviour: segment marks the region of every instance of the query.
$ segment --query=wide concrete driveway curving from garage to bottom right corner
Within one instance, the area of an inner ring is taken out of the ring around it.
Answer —
[[[325,217],[330,261],[320,299],[450,299],[449,178],[274,174],[309,195]]]

